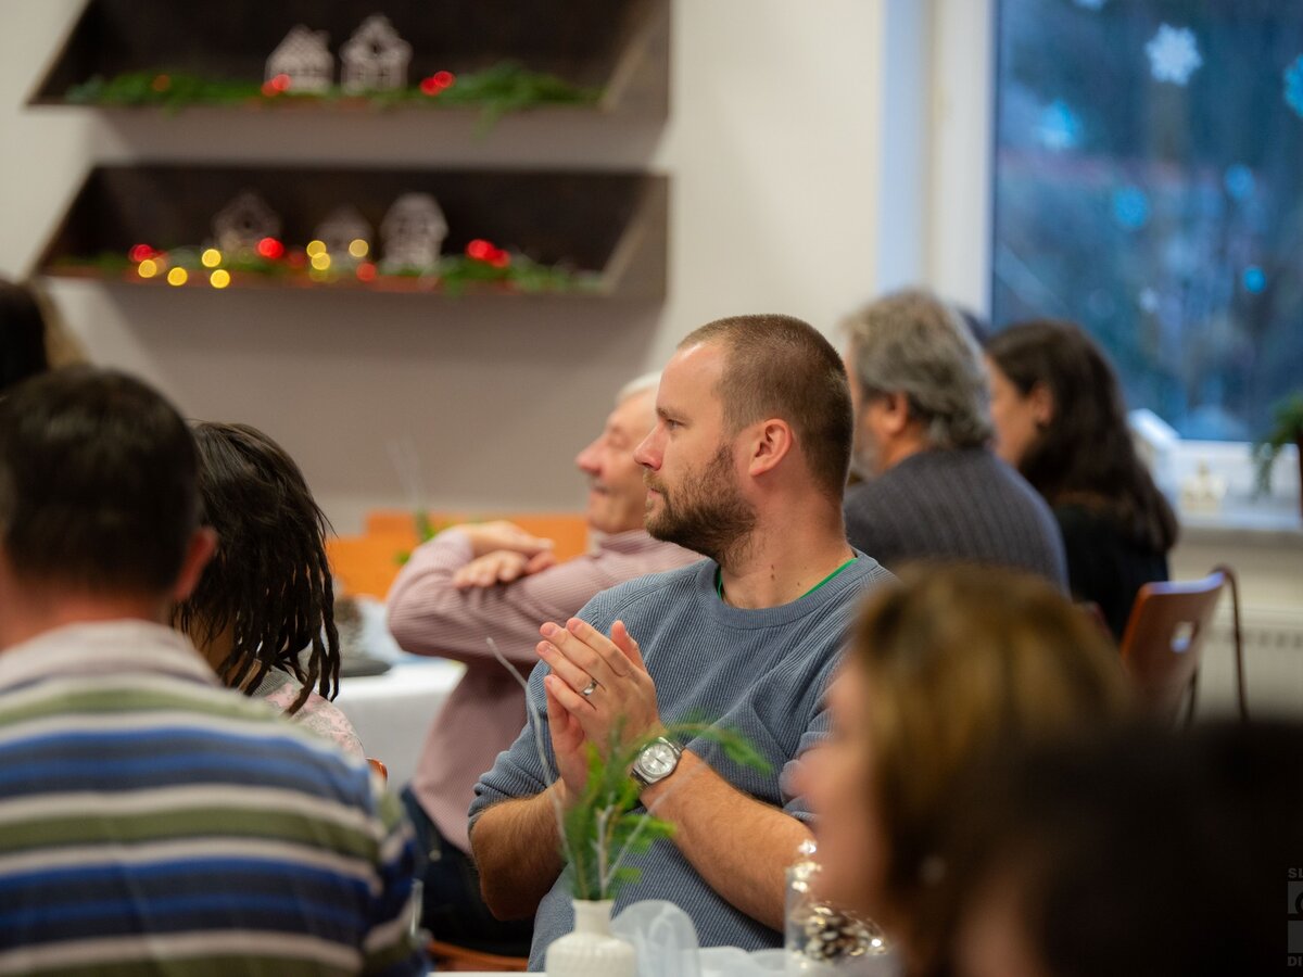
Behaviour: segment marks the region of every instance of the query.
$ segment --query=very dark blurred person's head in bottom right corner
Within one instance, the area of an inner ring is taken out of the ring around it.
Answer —
[[[1126,728],[979,771],[958,805],[955,888],[941,894],[954,952],[937,973],[1291,972],[1303,963],[1300,756],[1296,723]]]

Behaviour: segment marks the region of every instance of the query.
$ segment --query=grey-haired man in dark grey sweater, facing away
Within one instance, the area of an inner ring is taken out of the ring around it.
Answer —
[[[981,352],[928,292],[880,298],[843,323],[855,406],[846,494],[851,545],[889,569],[960,560],[1066,586],[1063,542],[1041,496],[988,447]]]

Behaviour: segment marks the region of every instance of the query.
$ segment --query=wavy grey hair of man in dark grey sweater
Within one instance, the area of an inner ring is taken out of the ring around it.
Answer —
[[[975,448],[992,436],[981,350],[959,313],[929,292],[895,292],[847,317],[850,361],[868,400],[904,393],[934,448]]]

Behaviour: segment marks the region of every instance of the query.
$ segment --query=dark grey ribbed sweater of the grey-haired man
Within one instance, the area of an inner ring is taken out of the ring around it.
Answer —
[[[984,448],[923,451],[846,494],[851,546],[898,571],[915,560],[1012,567],[1067,589],[1049,505]]]

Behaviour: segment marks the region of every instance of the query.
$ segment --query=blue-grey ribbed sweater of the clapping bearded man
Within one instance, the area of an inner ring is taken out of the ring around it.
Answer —
[[[704,560],[622,584],[594,597],[580,616],[603,633],[616,620],[625,623],[655,680],[665,723],[718,720],[745,736],[773,769],[761,774],[737,767],[714,746],[702,743],[687,744],[693,753],[737,789],[808,819],[803,800],[790,789],[792,761],[827,731],[823,690],[847,637],[857,598],[866,586],[890,574],[876,560],[860,554],[853,564],[814,593],[782,607],[748,611],[719,599],[715,571],[713,560]],[[534,668],[528,703],[545,728],[546,741],[545,673],[545,666]],[[551,744],[547,746],[550,750]],[[549,780],[539,769],[534,740],[526,728],[480,779],[470,817],[498,801],[536,795]],[[691,782],[681,789],[691,791]],[[719,821],[721,825],[728,822],[727,810],[719,812]],[[642,879],[619,894],[616,912],[641,899],[667,899],[692,917],[704,947],[756,950],[779,944],[778,933],[717,895],[672,842],[658,842],[629,864],[642,869]],[[568,878],[563,874],[538,907],[532,969],[542,969],[547,946],[572,926]]]

